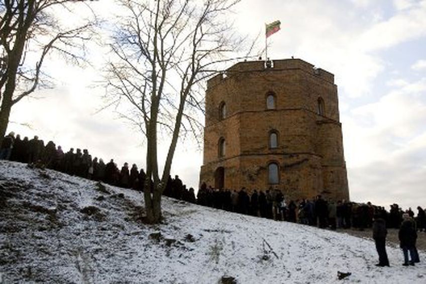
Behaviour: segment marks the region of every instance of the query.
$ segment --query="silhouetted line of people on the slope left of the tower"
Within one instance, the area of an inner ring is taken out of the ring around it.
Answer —
[[[21,139],[18,134],[11,132],[5,136],[0,147],[0,159],[23,163],[39,163],[45,168],[54,169],[60,172],[76,175],[92,180],[99,180],[105,183],[132,188],[134,190],[143,191],[146,174],[143,168],[138,170],[138,166],[133,164],[129,169],[126,162],[121,170],[118,168],[114,159],[105,164],[103,160],[97,157],[92,159],[87,149],[71,148],[64,153],[61,146],[55,145],[53,141],[49,141],[46,146],[44,141],[34,136],[29,140],[28,137]],[[152,188],[151,188],[152,191]],[[165,196],[196,203],[194,189],[186,188],[179,177],[169,176],[166,188],[163,192]]]

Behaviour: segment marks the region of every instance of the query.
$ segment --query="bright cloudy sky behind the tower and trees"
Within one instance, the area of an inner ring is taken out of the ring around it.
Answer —
[[[426,207],[426,1],[243,0],[234,15],[236,29],[252,37],[281,21],[271,59],[294,56],[335,74],[351,199]],[[55,60],[45,70],[55,88],[15,106],[9,131],[144,167],[142,136],[112,112],[96,112],[96,66]],[[201,163],[199,146],[186,141],[172,174],[196,187]]]

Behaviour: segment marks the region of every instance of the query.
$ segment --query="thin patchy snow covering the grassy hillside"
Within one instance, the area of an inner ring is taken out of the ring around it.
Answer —
[[[371,240],[168,198],[164,223],[148,226],[142,205],[135,191],[0,161],[3,281],[426,283],[424,252],[404,267],[388,246],[391,267],[376,267]]]

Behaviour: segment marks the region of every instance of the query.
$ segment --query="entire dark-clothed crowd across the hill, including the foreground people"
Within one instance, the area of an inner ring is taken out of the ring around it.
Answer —
[[[92,159],[87,149],[71,148],[64,153],[61,146],[53,141],[44,145],[37,136],[29,140],[11,132],[5,136],[0,147],[0,159],[23,163],[41,163],[44,167],[77,175],[92,180],[103,181],[134,190],[144,191],[146,174],[133,164],[124,163],[121,170],[114,159],[104,163],[102,159]],[[152,191],[152,188],[150,188]],[[417,214],[409,208],[403,211],[397,204],[390,206],[389,212],[384,207],[354,203],[349,201],[326,200],[321,195],[311,200],[286,200],[279,190],[269,188],[266,191],[254,190],[249,193],[241,190],[218,189],[202,183],[195,198],[194,189],[186,188],[179,176],[167,181],[163,195],[202,206],[213,207],[230,212],[269,218],[277,221],[297,222],[319,228],[372,228],[373,239],[379,254],[378,266],[389,266],[385,239],[387,228],[399,228],[400,246],[404,254],[403,265],[414,265],[418,262],[415,248],[417,231],[426,232],[426,214],[418,206]],[[410,260],[408,260],[408,253]]]

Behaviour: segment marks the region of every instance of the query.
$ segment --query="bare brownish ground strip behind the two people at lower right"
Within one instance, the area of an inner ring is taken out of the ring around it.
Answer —
[[[388,245],[399,247],[398,229],[387,229],[386,242]],[[358,229],[338,229],[339,233],[347,233],[352,236],[373,239],[373,232],[371,228],[360,231]],[[426,232],[417,232],[416,247],[418,250],[426,251]]]

